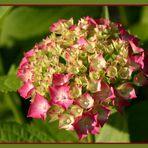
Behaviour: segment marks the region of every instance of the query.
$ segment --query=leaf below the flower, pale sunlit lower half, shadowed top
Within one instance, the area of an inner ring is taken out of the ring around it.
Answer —
[[[96,136],[96,142],[129,142],[127,118],[124,114],[113,113],[107,124]]]

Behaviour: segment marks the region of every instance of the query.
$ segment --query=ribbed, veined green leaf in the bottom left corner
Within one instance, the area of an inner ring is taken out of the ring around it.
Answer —
[[[0,142],[54,142],[42,129],[14,122],[0,123]]]

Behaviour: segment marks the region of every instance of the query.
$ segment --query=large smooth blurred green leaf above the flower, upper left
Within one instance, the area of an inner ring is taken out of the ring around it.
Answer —
[[[35,39],[49,34],[49,26],[59,19],[97,17],[98,7],[16,7],[5,18],[0,44],[13,45],[15,40]],[[44,36],[45,37],[45,36]]]

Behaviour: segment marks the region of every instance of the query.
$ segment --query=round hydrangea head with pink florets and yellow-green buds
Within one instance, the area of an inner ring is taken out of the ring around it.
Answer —
[[[119,23],[85,17],[59,20],[50,36],[24,53],[17,76],[20,95],[31,98],[28,117],[58,120],[82,139],[99,133],[111,109],[136,98],[147,83],[148,53]]]

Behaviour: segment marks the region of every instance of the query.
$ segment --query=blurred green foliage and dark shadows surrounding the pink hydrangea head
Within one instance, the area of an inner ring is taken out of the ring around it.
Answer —
[[[111,6],[109,12],[112,21],[121,22],[148,48],[147,6]],[[15,75],[23,53],[49,35],[52,23],[83,16],[101,17],[102,6],[0,6],[0,142],[78,142],[74,132],[59,130],[56,122],[26,118],[30,102],[19,97]],[[96,142],[148,142],[147,89],[139,88],[125,114],[111,115]]]

